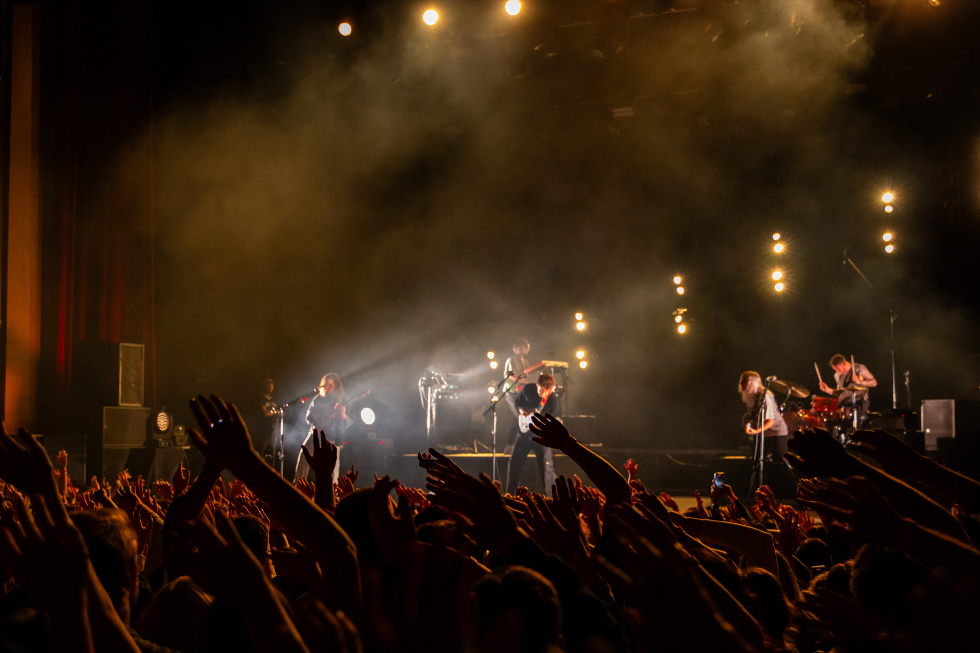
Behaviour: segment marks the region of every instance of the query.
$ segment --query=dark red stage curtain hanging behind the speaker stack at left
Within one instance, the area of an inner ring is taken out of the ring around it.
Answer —
[[[150,2],[43,3],[40,130],[44,429],[63,431],[79,341],[146,346],[153,312]]]

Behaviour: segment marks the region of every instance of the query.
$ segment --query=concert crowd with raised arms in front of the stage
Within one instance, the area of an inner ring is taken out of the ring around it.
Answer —
[[[291,484],[233,405],[192,400],[191,480],[69,478],[0,434],[3,651],[968,650],[980,614],[980,483],[884,431],[799,431],[794,506],[723,483],[681,511],[550,414],[535,442],[576,475],[544,496],[435,449],[425,488]],[[222,478],[222,474],[224,477]],[[226,479],[232,479],[227,482]],[[711,479],[706,479],[706,488]],[[973,644],[975,645],[975,643]]]

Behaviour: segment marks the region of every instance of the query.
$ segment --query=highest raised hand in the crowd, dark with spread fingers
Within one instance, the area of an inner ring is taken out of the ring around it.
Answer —
[[[259,460],[259,454],[252,447],[245,420],[233,403],[225,403],[220,396],[206,398],[198,395],[190,400],[190,409],[201,430],[191,429],[190,438],[204,454],[204,464],[221,472],[232,472]]]

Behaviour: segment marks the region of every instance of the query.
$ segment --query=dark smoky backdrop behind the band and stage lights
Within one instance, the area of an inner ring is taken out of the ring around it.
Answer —
[[[267,376],[292,396],[332,370],[372,390],[380,429],[417,435],[427,365],[477,387],[486,351],[526,337],[532,358],[587,351],[573,409],[607,443],[727,445],[745,369],[815,389],[814,361],[827,378],[831,354],[854,353],[889,406],[889,308],[913,403],[975,396],[972,3],[549,1],[515,19],[498,4],[445,3],[428,28],[411,3],[157,3],[125,24],[109,3],[48,42],[66,62],[146,64],[57,83],[61,108],[71,83],[108,105],[92,106],[111,134],[82,131],[116,166],[70,161],[59,135],[49,172],[74,176],[45,197],[84,173],[100,197],[148,200],[152,148],[152,202],[93,209],[92,228],[112,216],[99,242],[124,243],[84,251],[129,261],[106,278],[135,284],[119,305],[136,316],[95,328],[155,325],[158,405],[186,420],[193,393],[248,405]]]

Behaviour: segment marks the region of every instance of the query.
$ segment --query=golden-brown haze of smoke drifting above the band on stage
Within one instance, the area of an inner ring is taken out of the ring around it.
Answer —
[[[732,296],[758,295],[746,245],[774,220],[835,229],[867,128],[843,92],[869,56],[863,24],[829,1],[754,11],[748,26],[644,41],[636,72],[651,88],[684,78],[698,93],[638,100],[635,127],[549,124],[515,92],[543,78],[533,62],[485,48],[451,65],[409,25],[349,68],[311,52],[281,100],[173,106],[156,126],[164,387],[185,395],[193,367],[247,401],[267,375],[299,390],[334,369],[416,410],[435,358],[466,367],[524,334],[570,350],[566,313],[585,306],[601,364],[578,375],[583,408],[614,412],[633,440],[717,430],[731,420],[694,404],[734,402],[729,377],[753,360],[818,345],[818,311],[786,316],[785,331],[766,314],[773,328],[759,329],[759,299],[746,310]],[[479,73],[509,66],[529,80]],[[698,289],[699,347],[669,323],[679,267]]]

